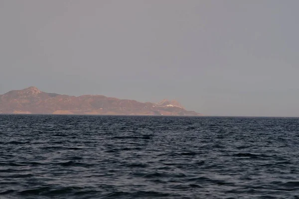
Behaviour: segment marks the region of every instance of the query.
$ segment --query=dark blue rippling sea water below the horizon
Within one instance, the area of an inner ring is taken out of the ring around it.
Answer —
[[[299,118],[0,115],[0,199],[298,199]]]

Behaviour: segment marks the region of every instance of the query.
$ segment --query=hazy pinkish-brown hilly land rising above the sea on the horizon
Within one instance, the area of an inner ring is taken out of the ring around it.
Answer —
[[[0,113],[16,114],[119,114],[119,115],[191,115],[175,100],[142,103],[100,95],[79,97],[45,93],[36,87],[9,91],[0,95]]]

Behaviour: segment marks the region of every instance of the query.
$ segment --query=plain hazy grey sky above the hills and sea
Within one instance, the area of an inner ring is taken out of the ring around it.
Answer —
[[[298,0],[0,0],[0,94],[299,116]]]

